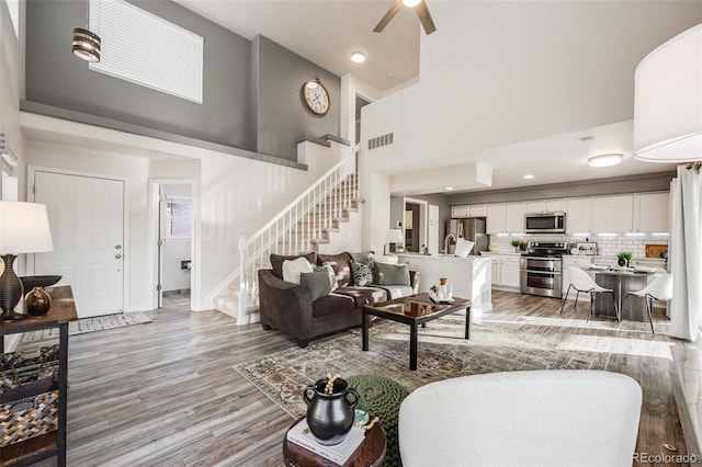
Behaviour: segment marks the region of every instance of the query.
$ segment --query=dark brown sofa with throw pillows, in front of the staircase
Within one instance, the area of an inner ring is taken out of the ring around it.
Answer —
[[[351,253],[312,252],[304,257],[312,264],[328,262],[339,288],[313,303],[305,286],[283,281],[283,261],[299,257],[271,254],[272,269],[258,272],[261,326],[265,330],[278,329],[292,335],[301,348],[307,346],[313,339],[361,326],[364,305],[417,294],[419,289],[417,271],[409,272],[409,286],[356,286],[351,272]]]

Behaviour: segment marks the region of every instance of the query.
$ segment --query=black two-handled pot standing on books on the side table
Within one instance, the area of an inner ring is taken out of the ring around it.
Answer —
[[[346,379],[333,380],[331,392],[327,394],[328,378],[318,379],[303,392],[307,403],[307,425],[319,444],[331,446],[341,443],[353,426],[354,410],[359,394],[348,388]],[[352,395],[352,400],[349,400]]]

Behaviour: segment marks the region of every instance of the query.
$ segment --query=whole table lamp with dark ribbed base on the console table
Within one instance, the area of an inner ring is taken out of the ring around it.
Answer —
[[[0,276],[0,321],[26,318],[26,315],[14,312],[23,294],[22,282],[14,273],[14,259],[21,253],[53,250],[45,205],[0,201],[0,258],[4,263]]]

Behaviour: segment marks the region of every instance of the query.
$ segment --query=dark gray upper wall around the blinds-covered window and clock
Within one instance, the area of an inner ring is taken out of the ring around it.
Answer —
[[[131,2],[204,37],[203,103],[90,70],[70,52],[72,29],[86,23],[86,1],[32,0],[26,2],[27,107],[64,109],[285,161],[296,161],[296,143],[306,136],[339,134],[340,79],[335,75],[264,37],[252,43],[169,0]],[[299,101],[299,86],[315,75],[332,94],[332,110],[324,118],[306,113]]]

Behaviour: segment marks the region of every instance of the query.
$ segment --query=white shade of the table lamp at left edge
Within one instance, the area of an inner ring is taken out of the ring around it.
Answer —
[[[53,251],[46,206],[0,201],[0,254]]]

